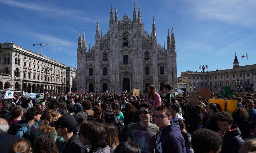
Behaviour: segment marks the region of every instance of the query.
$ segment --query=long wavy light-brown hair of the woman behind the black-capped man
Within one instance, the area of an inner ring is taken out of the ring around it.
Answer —
[[[42,130],[43,133],[55,133],[56,130],[54,127],[49,125],[49,122],[56,121],[59,118],[59,111],[50,109],[46,112],[45,122],[39,126],[38,130]]]

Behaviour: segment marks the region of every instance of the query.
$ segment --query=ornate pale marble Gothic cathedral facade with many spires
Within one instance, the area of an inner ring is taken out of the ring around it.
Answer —
[[[152,31],[143,28],[140,5],[138,18],[124,15],[118,20],[117,7],[110,12],[109,30],[100,34],[97,20],[95,44],[87,49],[81,32],[77,47],[76,87],[78,92],[146,92],[148,84],[161,90],[163,84],[177,87],[176,46],[173,29],[167,34],[167,48],[157,42],[153,16]]]

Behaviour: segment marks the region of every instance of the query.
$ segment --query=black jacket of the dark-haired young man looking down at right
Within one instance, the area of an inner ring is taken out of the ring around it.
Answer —
[[[244,143],[241,131],[237,125],[232,124],[231,131],[226,132],[223,138],[221,153],[239,153],[240,147]]]

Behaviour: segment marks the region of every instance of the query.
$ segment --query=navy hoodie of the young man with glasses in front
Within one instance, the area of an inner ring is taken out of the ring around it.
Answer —
[[[185,140],[178,121],[171,121],[171,125],[157,133],[155,153],[169,153],[170,151],[186,153]]]

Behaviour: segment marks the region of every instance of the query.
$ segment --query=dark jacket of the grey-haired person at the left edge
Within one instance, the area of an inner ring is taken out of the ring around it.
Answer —
[[[15,140],[19,139],[16,135],[10,135],[8,133],[0,133],[0,148],[1,153],[8,153],[8,146]]]

